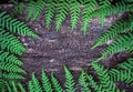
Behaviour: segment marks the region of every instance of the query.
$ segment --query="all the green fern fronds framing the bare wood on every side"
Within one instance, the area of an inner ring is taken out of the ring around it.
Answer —
[[[16,6],[14,12],[22,13],[24,3],[19,4],[13,0]],[[35,20],[42,11],[47,10],[44,21],[47,27],[50,27],[53,17],[55,17],[55,29],[59,30],[70,14],[71,30],[73,31],[82,14],[82,30],[86,33],[89,22],[92,18],[100,18],[100,22],[104,25],[106,16],[127,12],[125,19],[121,19],[112,24],[106,32],[99,37],[92,49],[102,45],[109,40],[113,42],[102,52],[102,57],[95,60],[96,62],[115,52],[129,51],[133,53],[133,3],[132,0],[122,0],[113,2],[112,0],[28,0],[27,20]],[[70,13],[69,13],[70,12]],[[54,16],[55,14],[55,16]],[[25,71],[21,68],[22,62],[16,55],[22,55],[25,48],[16,38],[16,33],[38,38],[31,29],[23,22],[10,17],[6,12],[0,13],[0,91],[1,92],[25,92],[25,89],[18,79],[24,79],[21,73]],[[124,82],[133,85],[133,59],[119,63],[113,69],[105,69],[95,62],[91,63],[94,69],[98,80],[92,74],[85,71],[81,72],[79,83],[82,86],[82,92],[125,92],[121,91],[117,82]],[[72,73],[64,67],[65,83],[64,89],[61,86],[58,79],[51,73],[51,79],[42,70],[42,80],[39,81],[34,73],[28,83],[29,92],[75,92],[75,82]]]

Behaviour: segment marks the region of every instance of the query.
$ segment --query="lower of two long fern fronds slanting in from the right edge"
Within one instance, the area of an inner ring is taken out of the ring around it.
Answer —
[[[111,45],[108,47],[105,51],[103,51],[102,55],[106,57],[112,53],[121,52],[121,51],[129,51],[133,45],[133,34],[122,34],[119,37],[116,41],[114,41]]]

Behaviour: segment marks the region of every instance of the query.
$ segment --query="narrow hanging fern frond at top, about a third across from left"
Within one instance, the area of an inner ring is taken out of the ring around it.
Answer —
[[[54,17],[55,3],[52,0],[49,0],[49,4],[45,8],[45,24],[49,27],[52,22],[52,18]]]

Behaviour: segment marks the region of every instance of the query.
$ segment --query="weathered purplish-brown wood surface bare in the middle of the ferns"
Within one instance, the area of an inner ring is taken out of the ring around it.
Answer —
[[[49,29],[45,28],[43,14],[37,21],[25,21],[25,12],[18,18],[27,22],[40,35],[39,39],[19,37],[27,47],[27,52],[20,58],[23,60],[23,68],[28,72],[27,80],[30,79],[32,72],[35,72],[37,76],[40,78],[41,69],[44,69],[48,74],[54,72],[60,82],[64,84],[63,65],[69,67],[78,82],[81,69],[88,69],[90,62],[99,58],[100,52],[105,48],[102,45],[91,50],[96,38],[120,17],[108,17],[103,28],[100,25],[99,19],[93,19],[85,35],[81,30],[81,21],[73,32],[70,31],[70,17],[66,18],[58,32],[54,28],[54,20]],[[89,70],[89,72],[92,71]],[[76,86],[79,89],[78,84]]]

